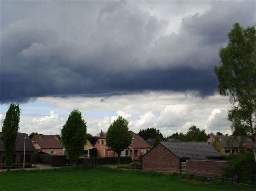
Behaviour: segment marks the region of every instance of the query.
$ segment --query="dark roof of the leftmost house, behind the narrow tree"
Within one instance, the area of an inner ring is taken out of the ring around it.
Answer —
[[[2,135],[2,132],[0,132],[0,137],[1,137],[1,135]],[[25,137],[26,137],[25,150],[26,151],[36,150],[31,142],[30,138],[28,137],[28,134],[18,132],[17,138],[16,138],[15,151],[23,151],[24,150],[24,138]],[[5,151],[5,147],[4,147],[2,140],[0,139],[0,152],[4,152],[4,151]]]

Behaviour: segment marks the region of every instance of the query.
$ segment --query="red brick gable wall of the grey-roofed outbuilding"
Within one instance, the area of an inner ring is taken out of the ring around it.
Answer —
[[[158,144],[142,158],[142,168],[166,173],[180,172],[180,159]]]

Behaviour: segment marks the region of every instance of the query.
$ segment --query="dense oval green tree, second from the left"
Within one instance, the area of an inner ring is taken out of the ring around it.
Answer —
[[[86,122],[82,119],[81,112],[74,109],[61,130],[62,143],[71,164],[82,155],[87,141],[86,135]]]

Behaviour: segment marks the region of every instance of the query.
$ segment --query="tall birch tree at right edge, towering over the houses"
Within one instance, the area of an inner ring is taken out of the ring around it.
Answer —
[[[221,65],[214,66],[218,92],[230,96],[232,109],[228,111],[228,120],[232,122],[232,131],[251,137],[256,161],[256,29],[243,29],[235,23],[228,37],[228,45],[219,51]]]

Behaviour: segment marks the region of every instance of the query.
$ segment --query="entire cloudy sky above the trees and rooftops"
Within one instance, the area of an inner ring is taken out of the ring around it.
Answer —
[[[256,25],[256,1],[0,1],[0,121],[60,134],[79,109],[96,135],[122,115],[164,136],[194,124],[231,134],[213,72],[234,23]]]

